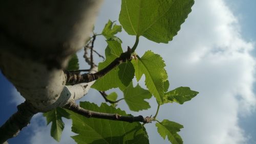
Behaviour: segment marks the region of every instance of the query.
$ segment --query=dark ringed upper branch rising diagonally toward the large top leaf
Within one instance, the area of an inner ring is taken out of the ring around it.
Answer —
[[[116,58],[108,66],[101,69],[95,74],[80,75],[76,73],[70,73],[69,71],[65,71],[67,83],[78,84],[78,83],[88,83],[88,82],[97,80],[98,78],[103,77],[105,74],[109,73],[110,70],[114,69],[119,64],[125,62],[126,60],[131,60],[131,55],[132,55],[132,51],[131,51],[131,48],[128,46],[128,49],[126,52],[122,53],[120,57]]]

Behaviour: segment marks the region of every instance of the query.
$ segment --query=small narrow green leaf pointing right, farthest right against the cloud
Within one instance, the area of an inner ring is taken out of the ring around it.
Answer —
[[[190,90],[189,87],[178,87],[174,90],[166,92],[164,94],[164,103],[179,103],[183,104],[186,101],[190,101],[196,97],[199,92]]]

